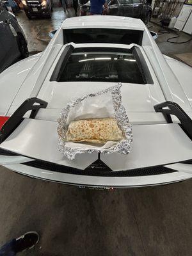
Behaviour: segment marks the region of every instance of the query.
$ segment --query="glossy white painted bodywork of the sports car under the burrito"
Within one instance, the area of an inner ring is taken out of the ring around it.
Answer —
[[[122,84],[122,101],[133,125],[132,151],[128,156],[117,154],[101,156],[102,161],[116,172],[159,165],[171,166],[168,168],[177,172],[135,177],[99,177],[51,172],[22,164],[40,159],[40,161],[84,170],[97,160],[97,154],[84,154],[77,156],[74,161],[69,161],[57,149],[56,121],[65,104],[85,93],[96,92],[114,84],[50,81],[52,72],[66,47],[63,45],[63,29],[71,28],[143,31],[141,45],[119,45],[112,42],[111,44],[71,44],[76,48],[138,47],[154,81],[154,84]],[[177,124],[179,120],[176,117],[172,119],[174,124],[167,124],[163,114],[154,110],[154,105],[170,100],[179,104],[189,116],[192,116],[192,88],[187,76],[192,78],[192,68],[163,56],[141,20],[115,16],[67,19],[42,54],[20,61],[0,76],[0,92],[3,92],[0,94],[0,115],[12,115],[29,97],[38,97],[48,102],[47,108],[40,109],[35,119],[30,119],[29,115],[26,115],[19,127],[0,144],[0,149],[10,150],[19,155],[1,156],[0,163],[10,170],[31,177],[83,186],[150,186],[189,179],[192,176],[192,165],[186,166],[179,162],[192,158],[191,140]]]

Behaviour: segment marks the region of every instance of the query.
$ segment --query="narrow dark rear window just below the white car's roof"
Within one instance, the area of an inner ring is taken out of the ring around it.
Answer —
[[[143,31],[131,29],[63,29],[64,44],[108,43],[141,45]]]

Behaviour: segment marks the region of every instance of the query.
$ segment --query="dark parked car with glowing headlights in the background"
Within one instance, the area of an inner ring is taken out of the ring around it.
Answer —
[[[22,0],[22,4],[28,19],[33,16],[51,18],[51,0]]]

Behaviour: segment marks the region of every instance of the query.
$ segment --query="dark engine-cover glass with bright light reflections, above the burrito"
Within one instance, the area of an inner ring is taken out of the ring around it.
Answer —
[[[60,72],[59,82],[100,81],[145,84],[145,79],[131,51],[110,52],[108,49],[74,51]]]

